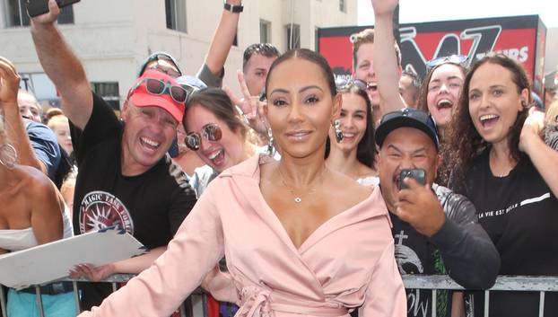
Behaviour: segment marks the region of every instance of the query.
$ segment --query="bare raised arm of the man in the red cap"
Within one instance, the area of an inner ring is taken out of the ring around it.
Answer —
[[[31,18],[31,36],[39,61],[62,97],[62,110],[74,126],[83,129],[91,117],[92,92],[82,63],[55,25],[60,9],[48,0],[49,12]]]

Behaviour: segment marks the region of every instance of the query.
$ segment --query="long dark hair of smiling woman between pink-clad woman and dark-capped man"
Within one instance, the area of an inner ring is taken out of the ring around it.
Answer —
[[[356,147],[356,159],[364,165],[373,168],[376,164],[376,145],[374,143],[374,121],[372,120],[372,106],[368,93],[359,88],[356,84],[347,84],[338,90],[339,93],[353,93],[360,96],[366,102],[366,130],[362,135],[361,141]],[[326,158],[329,156],[331,140],[327,137]]]

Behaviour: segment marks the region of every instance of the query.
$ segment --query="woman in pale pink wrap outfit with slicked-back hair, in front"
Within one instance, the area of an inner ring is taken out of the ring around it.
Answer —
[[[341,97],[326,60],[279,57],[266,83],[279,162],[222,172],[150,269],[82,316],[168,316],[224,256],[237,316],[406,316],[388,211],[377,187],[327,169]]]

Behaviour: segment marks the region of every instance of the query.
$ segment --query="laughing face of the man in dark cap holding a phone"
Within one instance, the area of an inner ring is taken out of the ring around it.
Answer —
[[[389,132],[379,149],[379,183],[388,209],[395,210],[399,174],[404,169],[423,169],[432,186],[440,156],[432,138],[417,128],[396,128]]]

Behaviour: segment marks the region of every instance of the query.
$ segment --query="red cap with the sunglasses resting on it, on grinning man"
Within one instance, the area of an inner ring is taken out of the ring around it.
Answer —
[[[182,122],[188,92],[172,78],[153,69],[148,69],[130,88],[127,100],[132,99],[136,107],[159,107]]]

